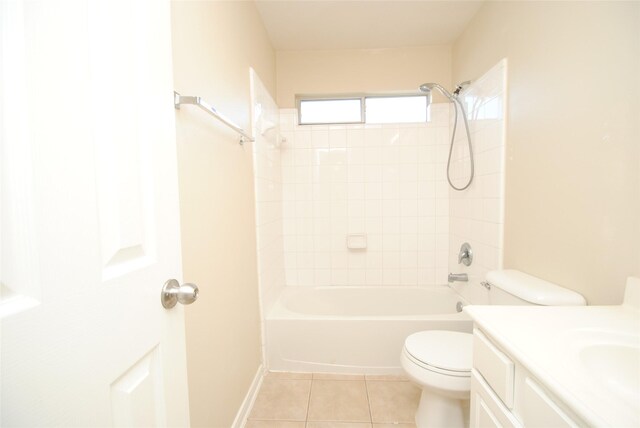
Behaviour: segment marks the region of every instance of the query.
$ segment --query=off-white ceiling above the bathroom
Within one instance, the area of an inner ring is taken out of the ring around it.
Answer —
[[[475,1],[257,0],[276,50],[372,49],[453,43]]]

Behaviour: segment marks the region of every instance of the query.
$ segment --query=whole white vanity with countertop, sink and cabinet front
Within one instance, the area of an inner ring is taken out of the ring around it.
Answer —
[[[640,279],[627,290],[620,306],[466,306],[471,426],[640,427]]]

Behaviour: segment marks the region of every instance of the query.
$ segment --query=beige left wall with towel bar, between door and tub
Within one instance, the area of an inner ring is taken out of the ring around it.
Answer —
[[[275,94],[275,54],[253,2],[172,3],[175,89],[240,126],[249,67]],[[193,106],[176,114],[192,426],[228,427],[261,364],[251,147]]]

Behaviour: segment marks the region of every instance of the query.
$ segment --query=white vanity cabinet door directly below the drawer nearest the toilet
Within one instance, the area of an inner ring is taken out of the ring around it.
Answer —
[[[471,428],[522,426],[475,369],[471,371],[470,419]]]

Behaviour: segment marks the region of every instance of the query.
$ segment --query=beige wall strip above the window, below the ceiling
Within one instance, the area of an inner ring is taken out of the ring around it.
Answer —
[[[280,108],[295,107],[296,94],[417,92],[424,82],[451,87],[451,46],[279,51],[276,57]]]

